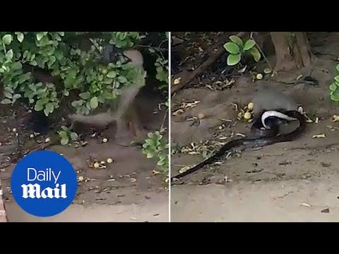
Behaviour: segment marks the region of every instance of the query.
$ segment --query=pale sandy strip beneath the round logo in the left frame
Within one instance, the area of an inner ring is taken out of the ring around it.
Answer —
[[[126,190],[127,191],[127,190]],[[132,195],[131,195],[132,196]],[[9,222],[168,222],[168,193],[148,193],[148,199],[127,204],[73,204],[54,217],[31,216],[16,202],[6,202]]]

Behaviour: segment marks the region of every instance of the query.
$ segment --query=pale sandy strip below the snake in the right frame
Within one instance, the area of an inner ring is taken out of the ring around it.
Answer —
[[[338,177],[176,186],[171,217],[175,222],[338,222],[338,193]]]

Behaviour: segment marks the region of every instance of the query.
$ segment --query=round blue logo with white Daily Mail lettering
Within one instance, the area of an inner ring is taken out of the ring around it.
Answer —
[[[29,214],[49,217],[63,212],[77,191],[76,171],[57,152],[32,152],[16,165],[11,190],[18,205]]]

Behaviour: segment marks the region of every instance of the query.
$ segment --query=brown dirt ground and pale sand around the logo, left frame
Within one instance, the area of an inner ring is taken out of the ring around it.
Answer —
[[[137,98],[142,124],[147,130],[160,128],[165,110],[158,109],[161,99]],[[0,140],[14,142],[11,116],[0,119]],[[166,126],[165,126],[166,127]],[[27,131],[26,131],[27,132]],[[24,136],[30,133],[24,132]],[[147,133],[147,132],[146,132]],[[40,138],[40,140],[44,140]],[[54,217],[40,218],[27,214],[16,205],[10,189],[14,155],[1,154],[0,177],[8,222],[168,222],[168,183],[165,176],[155,171],[156,161],[147,159],[141,147],[125,147],[131,139],[109,140],[90,138],[84,147],[53,145],[49,150],[63,154],[78,174],[78,192],[73,204]],[[88,167],[88,158],[99,161],[114,159],[106,169]],[[1,207],[0,207],[1,210]]]

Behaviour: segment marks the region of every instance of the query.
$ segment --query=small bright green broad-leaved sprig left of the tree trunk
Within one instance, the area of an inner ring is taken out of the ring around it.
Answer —
[[[244,54],[250,54],[254,60],[258,62],[261,59],[261,54],[256,48],[256,42],[254,40],[247,40],[244,42],[236,35],[230,36],[230,42],[224,44],[224,48],[230,54],[227,56],[227,65],[234,66],[242,60]]]

